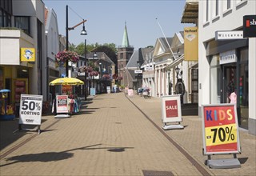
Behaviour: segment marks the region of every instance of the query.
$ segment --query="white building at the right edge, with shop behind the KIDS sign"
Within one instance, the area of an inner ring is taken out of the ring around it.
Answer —
[[[198,112],[202,105],[229,103],[237,94],[239,126],[256,134],[256,38],[215,40],[217,31],[239,31],[243,16],[256,14],[256,1],[199,1]],[[230,58],[229,61],[223,61]]]

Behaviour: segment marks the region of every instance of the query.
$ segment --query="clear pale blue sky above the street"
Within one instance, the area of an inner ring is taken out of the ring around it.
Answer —
[[[87,35],[80,35],[82,25],[69,31],[69,42],[122,46],[125,23],[130,46],[134,50],[154,46],[157,38],[173,37],[193,24],[181,23],[186,0],[42,0],[58,18],[58,32],[66,35],[66,5],[69,27],[86,19]],[[158,19],[156,19],[158,18]],[[161,27],[162,30],[161,30]],[[162,32],[163,31],[163,32]]]

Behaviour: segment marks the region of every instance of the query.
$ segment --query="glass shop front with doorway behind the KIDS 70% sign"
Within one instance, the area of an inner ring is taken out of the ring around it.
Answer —
[[[239,126],[248,129],[248,40],[210,41],[210,104],[237,105]]]

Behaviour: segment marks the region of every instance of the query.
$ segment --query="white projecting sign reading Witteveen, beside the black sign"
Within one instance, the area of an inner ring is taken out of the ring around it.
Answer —
[[[215,40],[234,40],[234,39],[243,39],[242,30],[215,32]]]

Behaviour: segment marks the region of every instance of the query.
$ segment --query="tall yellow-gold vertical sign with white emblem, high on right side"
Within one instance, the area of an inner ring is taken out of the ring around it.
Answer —
[[[184,60],[198,61],[198,27],[184,28]]]

